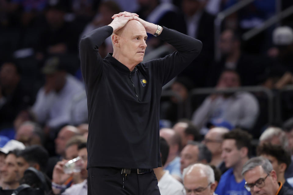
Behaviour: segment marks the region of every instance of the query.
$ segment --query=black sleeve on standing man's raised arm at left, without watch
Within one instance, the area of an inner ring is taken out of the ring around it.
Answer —
[[[87,87],[101,76],[103,67],[98,48],[112,33],[112,27],[104,26],[91,31],[80,40],[81,73]]]

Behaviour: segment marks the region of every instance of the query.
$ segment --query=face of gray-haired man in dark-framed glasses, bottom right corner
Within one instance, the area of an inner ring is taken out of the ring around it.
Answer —
[[[248,184],[254,184],[257,181],[263,180],[268,174],[264,172],[261,166],[257,166],[244,174],[244,179]],[[261,179],[263,178],[263,179]],[[259,183],[259,182],[257,182]],[[264,180],[263,187],[254,186],[251,188],[251,195],[275,195],[277,183],[277,176],[274,171],[272,171],[269,176]]]

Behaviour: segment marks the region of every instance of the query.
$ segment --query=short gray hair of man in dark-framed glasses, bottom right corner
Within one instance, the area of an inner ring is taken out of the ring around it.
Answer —
[[[254,169],[257,166],[262,166],[263,170],[269,174],[273,170],[273,165],[269,162],[268,159],[258,156],[249,159],[242,168],[242,175],[244,175],[246,172],[248,172],[251,169]]]

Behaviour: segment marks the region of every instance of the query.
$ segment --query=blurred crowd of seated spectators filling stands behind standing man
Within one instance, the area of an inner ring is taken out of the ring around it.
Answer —
[[[201,54],[163,89],[172,95],[163,96],[160,106],[164,169],[155,169],[155,174],[161,194],[191,194],[188,190],[205,179],[201,190],[207,186],[206,194],[249,194],[244,188],[249,169],[242,174],[242,168],[252,156],[269,159],[275,171],[272,178],[291,187],[293,93],[284,89],[293,84],[293,15],[248,40],[243,35],[293,2],[255,0],[227,16],[215,40],[218,14],[238,2],[0,0],[2,190],[27,183],[47,194],[86,194],[88,109],[78,44],[83,35],[110,24],[111,16],[121,11],[135,12],[203,43]],[[148,34],[145,59],[173,51]],[[102,57],[108,52],[113,52],[110,38],[99,48]],[[269,90],[273,109],[260,90],[237,90],[247,86]],[[192,94],[201,88],[214,91]],[[269,112],[278,117],[269,120]],[[80,169],[65,173],[67,161],[77,157]],[[199,174],[205,179],[196,180]],[[166,183],[174,183],[173,188]]]

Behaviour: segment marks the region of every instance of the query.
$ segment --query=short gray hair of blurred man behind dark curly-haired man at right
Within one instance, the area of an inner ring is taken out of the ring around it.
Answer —
[[[285,149],[288,150],[288,138],[286,136],[286,133],[279,127],[269,127],[267,128],[259,137],[259,141],[265,141],[265,140],[270,140],[274,136],[277,136],[280,140],[281,146]]]

